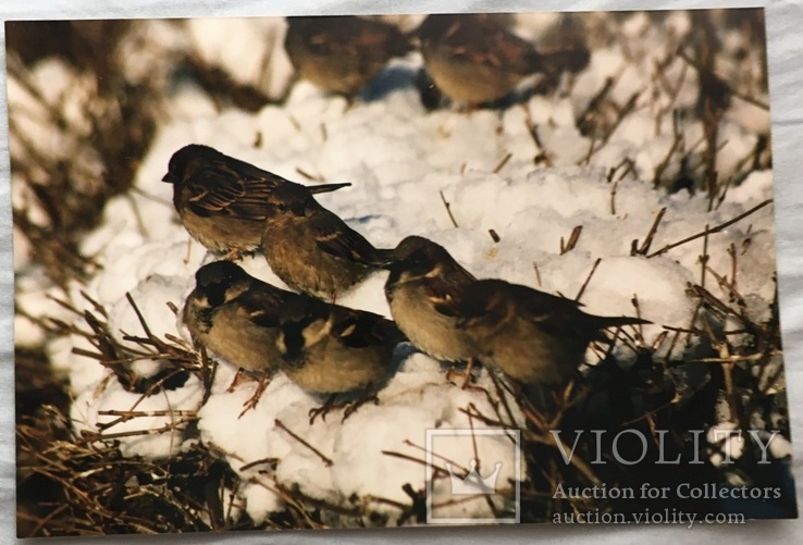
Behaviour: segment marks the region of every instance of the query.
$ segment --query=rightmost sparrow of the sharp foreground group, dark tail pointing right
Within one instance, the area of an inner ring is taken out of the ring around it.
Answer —
[[[597,317],[580,304],[502,280],[480,280],[464,290],[457,326],[479,347],[479,358],[527,386],[559,387],[577,372],[603,330],[651,323]]]

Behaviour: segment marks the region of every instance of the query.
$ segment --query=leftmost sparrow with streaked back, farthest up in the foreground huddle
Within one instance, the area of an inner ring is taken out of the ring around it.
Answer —
[[[302,186],[198,144],[173,153],[162,182],[173,184],[173,206],[189,235],[227,259],[259,248],[277,187],[296,187],[306,198],[351,185]]]

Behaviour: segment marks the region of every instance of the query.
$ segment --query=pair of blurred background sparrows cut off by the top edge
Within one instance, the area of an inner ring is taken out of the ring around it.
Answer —
[[[540,53],[503,20],[492,14],[429,15],[418,28],[403,33],[360,16],[287,17],[285,50],[301,78],[350,99],[391,59],[418,47],[437,89],[466,107],[494,103],[532,74],[578,72],[588,64],[586,48]]]

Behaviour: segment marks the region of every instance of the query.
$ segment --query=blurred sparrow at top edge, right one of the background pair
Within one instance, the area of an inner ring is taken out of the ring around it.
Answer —
[[[432,80],[468,107],[507,97],[532,74],[577,72],[589,62],[582,49],[541,54],[490,14],[429,15],[416,35]]]

